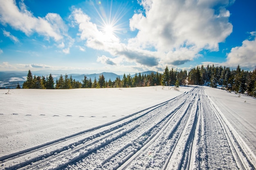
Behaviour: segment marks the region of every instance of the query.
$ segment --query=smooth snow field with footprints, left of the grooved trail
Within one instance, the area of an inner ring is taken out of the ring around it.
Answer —
[[[0,157],[124,118],[170,100],[168,87],[0,89]]]

